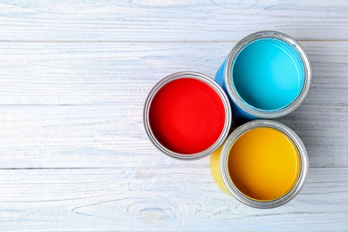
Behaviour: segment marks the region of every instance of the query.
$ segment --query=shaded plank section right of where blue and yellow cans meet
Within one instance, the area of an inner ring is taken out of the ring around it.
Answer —
[[[348,107],[303,104],[285,123],[302,138],[311,166],[341,166],[348,163]]]

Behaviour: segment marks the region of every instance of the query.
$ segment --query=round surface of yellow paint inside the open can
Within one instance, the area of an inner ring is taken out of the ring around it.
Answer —
[[[236,139],[228,157],[235,186],[257,201],[271,201],[294,186],[301,168],[294,142],[275,128],[253,128]],[[218,182],[218,181],[217,181]]]

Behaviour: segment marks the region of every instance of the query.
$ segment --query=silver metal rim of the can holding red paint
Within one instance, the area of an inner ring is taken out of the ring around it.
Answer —
[[[222,104],[224,105],[225,109],[225,123],[224,127],[221,131],[220,137],[215,141],[213,145],[208,147],[207,149],[203,150],[199,153],[192,153],[192,154],[182,154],[182,153],[175,153],[173,151],[170,151],[168,148],[163,146],[153,135],[153,131],[150,127],[150,120],[149,120],[149,112],[150,112],[150,106],[153,101],[154,95],[166,84],[168,84],[170,81],[173,81],[175,79],[182,79],[182,78],[192,78],[192,79],[198,79],[203,81],[205,84],[209,85],[212,89],[215,90],[215,92],[220,95]],[[161,79],[150,91],[150,93],[147,95],[147,98],[145,100],[145,106],[144,106],[144,114],[143,114],[143,120],[144,120],[144,126],[147,136],[150,138],[153,145],[155,145],[162,153],[165,153],[169,155],[170,157],[179,159],[179,160],[197,160],[201,159],[211,153],[213,153],[216,149],[219,148],[220,145],[225,141],[226,137],[228,137],[229,128],[231,127],[232,123],[232,110],[231,106],[228,102],[228,96],[225,94],[225,92],[222,90],[222,88],[212,79],[210,79],[208,76],[205,76],[199,72],[194,71],[180,71],[173,74],[170,74],[169,76]]]

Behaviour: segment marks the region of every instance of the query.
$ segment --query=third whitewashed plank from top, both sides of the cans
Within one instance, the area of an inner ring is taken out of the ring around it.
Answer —
[[[0,168],[207,167],[160,153],[142,104],[0,106]],[[279,119],[302,137],[311,167],[348,165],[348,108],[303,104]]]

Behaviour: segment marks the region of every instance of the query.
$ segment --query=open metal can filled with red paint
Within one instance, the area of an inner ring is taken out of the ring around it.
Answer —
[[[145,131],[170,157],[196,160],[228,137],[232,112],[228,96],[209,77],[183,71],[159,81],[145,101]]]

